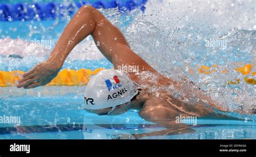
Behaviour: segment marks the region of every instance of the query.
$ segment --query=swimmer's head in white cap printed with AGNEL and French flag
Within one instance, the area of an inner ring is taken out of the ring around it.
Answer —
[[[137,94],[136,85],[126,74],[114,69],[101,70],[86,86],[85,109],[98,115],[119,115],[127,111]]]

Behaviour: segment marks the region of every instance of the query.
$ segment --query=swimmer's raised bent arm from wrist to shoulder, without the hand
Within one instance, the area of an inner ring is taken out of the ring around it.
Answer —
[[[73,47],[88,35],[92,35],[99,51],[114,65],[114,68],[117,69],[122,64],[137,63],[136,66],[139,68],[154,71],[146,61],[131,50],[122,32],[90,5],[83,6],[66,26],[49,61],[59,62],[61,67]]]

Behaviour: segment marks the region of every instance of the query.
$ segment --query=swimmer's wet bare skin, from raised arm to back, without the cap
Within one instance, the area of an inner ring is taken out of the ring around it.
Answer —
[[[140,94],[137,95],[130,104],[117,106],[110,115],[119,115],[129,109],[139,109],[139,115],[151,122],[165,124],[173,130],[186,128],[185,124],[173,126],[176,116],[198,116],[198,117],[223,117],[217,114],[214,108],[228,111],[214,103],[211,98],[204,95],[200,90],[195,90],[198,95],[198,102],[185,103],[186,96],[176,98],[169,92],[159,90],[158,93],[151,92],[149,87],[168,87],[172,85],[174,90],[179,92],[182,87],[180,82],[169,79],[146,63],[140,56],[134,53],[126,42],[124,35],[107,20],[102,13],[92,6],[83,6],[78,10],[70,23],[65,27],[50,57],[45,62],[39,63],[19,80],[18,88],[36,88],[49,83],[57,76],[60,68],[72,49],[88,35],[92,35],[98,49],[114,65],[118,66],[139,66],[139,75],[130,73],[134,82],[142,85]],[[145,73],[149,73],[148,78],[144,78]],[[152,80],[154,78],[154,80]],[[189,98],[187,96],[187,98]],[[206,107],[206,104],[210,106]],[[212,106],[212,107],[211,107]],[[89,112],[104,115],[111,108],[103,110],[87,110]],[[170,131],[170,130],[169,130]],[[183,130],[190,132],[191,130]]]

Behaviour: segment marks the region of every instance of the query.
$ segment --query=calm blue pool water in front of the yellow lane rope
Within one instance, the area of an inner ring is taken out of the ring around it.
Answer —
[[[147,122],[138,111],[98,116],[83,110],[85,87],[39,87],[0,91],[0,115],[21,116],[21,124],[0,124],[0,139],[133,139],[133,134],[165,130]],[[22,104],[22,105],[21,105]],[[254,117],[250,117],[255,120]],[[255,139],[251,120],[198,119],[193,133],[142,139]]]

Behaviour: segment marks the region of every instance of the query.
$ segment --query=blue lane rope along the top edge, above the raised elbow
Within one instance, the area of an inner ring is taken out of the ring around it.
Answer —
[[[92,5],[95,8],[118,8],[120,11],[140,8],[145,10],[147,0],[86,0],[69,5],[63,3],[18,3],[0,5],[0,21],[31,20],[31,19],[54,19],[58,16],[65,16],[68,10],[69,15],[83,5]]]

